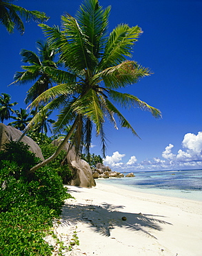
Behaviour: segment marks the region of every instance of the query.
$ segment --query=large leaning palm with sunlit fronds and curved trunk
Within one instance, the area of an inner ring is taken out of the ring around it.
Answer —
[[[33,167],[31,172],[52,161],[72,133],[73,143],[78,149],[83,141],[89,149],[93,124],[97,135],[101,136],[104,154],[104,122],[109,120],[118,129],[114,116],[119,120],[121,127],[126,127],[137,135],[117,108],[118,105],[125,108],[139,107],[150,111],[156,118],[161,116],[159,109],[139,100],[137,96],[121,93],[121,88],[150,75],[150,70],[133,60],[127,60],[127,57],[132,56],[132,47],[142,33],[141,28],[120,24],[108,35],[109,15],[110,7],[104,10],[97,0],[85,0],[76,18],[70,15],[61,17],[61,30],[57,26],[51,28],[40,25],[48,36],[48,42],[59,48],[60,58],[67,71],[56,68],[52,70],[50,75],[60,79],[61,84],[41,93],[30,107],[44,102],[46,106],[43,111],[46,111],[58,109],[62,105],[54,130],[60,131],[70,123],[72,127],[57,152]],[[30,127],[40,120],[43,111],[34,116]]]

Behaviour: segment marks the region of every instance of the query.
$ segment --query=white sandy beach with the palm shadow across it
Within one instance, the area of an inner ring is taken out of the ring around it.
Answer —
[[[74,199],[65,201],[54,231],[64,242],[76,231],[79,246],[63,255],[202,255],[201,201],[101,183],[68,192]]]

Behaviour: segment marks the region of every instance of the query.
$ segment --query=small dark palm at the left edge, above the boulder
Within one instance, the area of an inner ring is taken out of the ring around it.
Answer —
[[[10,112],[14,113],[12,107],[14,107],[17,102],[10,103],[11,97],[7,93],[1,93],[0,96],[0,120],[3,122],[4,120],[10,119]]]

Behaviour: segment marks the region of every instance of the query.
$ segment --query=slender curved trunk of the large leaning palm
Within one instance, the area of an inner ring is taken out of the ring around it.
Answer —
[[[59,155],[59,153],[61,152],[61,150],[65,146],[65,144],[68,143],[68,140],[70,139],[70,136],[72,135],[74,129],[77,126],[77,122],[78,122],[78,118],[74,121],[74,124],[72,125],[72,127],[71,127],[70,131],[68,132],[67,136],[65,136],[64,140],[61,142],[61,144],[57,148],[57,151],[54,152],[54,154],[52,154],[52,156],[47,158],[45,161],[43,161],[41,163],[38,163],[38,165],[35,165],[34,167],[32,167],[28,173],[32,173],[32,172],[38,170],[40,167],[43,167],[44,165],[47,165],[48,163],[50,163],[52,160],[54,160],[54,158],[56,158]]]

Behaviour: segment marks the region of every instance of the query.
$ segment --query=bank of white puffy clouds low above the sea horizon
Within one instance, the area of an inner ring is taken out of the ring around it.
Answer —
[[[176,154],[172,153],[174,145],[169,144],[162,152],[164,159],[154,157],[138,163],[136,156],[131,156],[128,162],[123,163],[125,154],[114,152],[112,156],[103,159],[104,165],[110,165],[112,170],[181,170],[202,168],[202,131],[198,134],[185,134],[182,141],[182,149]]]

